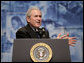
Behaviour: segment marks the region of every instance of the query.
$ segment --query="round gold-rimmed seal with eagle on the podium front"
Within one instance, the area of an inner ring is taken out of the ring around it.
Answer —
[[[30,57],[34,62],[49,62],[52,49],[46,43],[37,43],[30,50]]]

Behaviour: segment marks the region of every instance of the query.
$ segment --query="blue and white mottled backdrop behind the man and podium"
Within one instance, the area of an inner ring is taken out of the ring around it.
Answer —
[[[12,61],[15,33],[25,26],[26,11],[37,6],[42,11],[42,26],[51,39],[59,33],[77,37],[70,46],[72,62],[83,61],[83,1],[1,1],[1,62]]]

